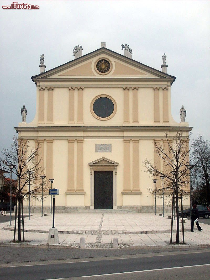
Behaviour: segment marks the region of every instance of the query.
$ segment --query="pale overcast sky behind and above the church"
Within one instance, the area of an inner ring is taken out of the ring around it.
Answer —
[[[18,0],[17,0],[18,1]],[[46,71],[73,59],[73,48],[83,55],[101,47],[118,52],[122,43],[133,49],[132,58],[161,70],[167,55],[168,74],[177,76],[171,88],[172,116],[180,122],[184,105],[191,138],[210,140],[209,66],[210,1],[39,1],[38,10],[3,10],[12,1],[1,0],[1,137],[0,150],[17,135],[20,108],[27,122],[36,110],[39,57]]]

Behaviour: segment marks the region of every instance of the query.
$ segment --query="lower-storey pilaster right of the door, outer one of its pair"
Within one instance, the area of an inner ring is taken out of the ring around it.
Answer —
[[[139,139],[133,140],[133,189],[132,192],[139,192]]]

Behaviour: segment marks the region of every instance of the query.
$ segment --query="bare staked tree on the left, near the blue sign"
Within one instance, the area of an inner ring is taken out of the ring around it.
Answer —
[[[12,165],[12,173],[15,175],[15,177],[17,177],[17,190],[15,194],[18,202],[18,241],[21,241],[21,201],[23,199],[28,200],[29,198],[29,175],[27,171],[33,172],[30,176],[30,196],[33,197],[33,199],[40,199],[36,194],[42,190],[42,180],[39,176],[43,175],[44,171],[40,165],[42,159],[38,159],[38,153],[39,143],[36,145],[36,147],[30,146],[28,139],[17,139],[17,137],[13,138],[13,143],[11,144],[10,150],[3,149],[2,151],[3,157],[0,160],[0,168],[10,171],[9,166]],[[43,185],[45,188],[46,181],[44,181]],[[15,221],[16,218],[17,216],[15,216]]]

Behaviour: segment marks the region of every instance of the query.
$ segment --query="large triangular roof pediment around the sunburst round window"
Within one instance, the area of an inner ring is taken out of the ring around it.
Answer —
[[[97,61],[101,58],[108,59],[111,63],[111,70],[107,74],[103,75],[97,72],[95,66]],[[99,79],[118,80],[121,77],[123,79],[167,79],[167,81],[171,81],[171,83],[176,78],[104,47],[48,70],[44,73],[32,76],[31,78],[36,83],[37,81],[42,80],[59,81],[61,79],[66,80],[70,78],[80,80],[83,78],[91,78],[92,81]]]

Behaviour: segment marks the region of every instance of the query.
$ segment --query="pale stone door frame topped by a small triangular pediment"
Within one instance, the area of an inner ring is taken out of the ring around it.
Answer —
[[[117,209],[117,166],[118,162],[102,157],[92,162],[90,166],[90,209],[94,209],[94,171],[113,171],[113,209]]]

